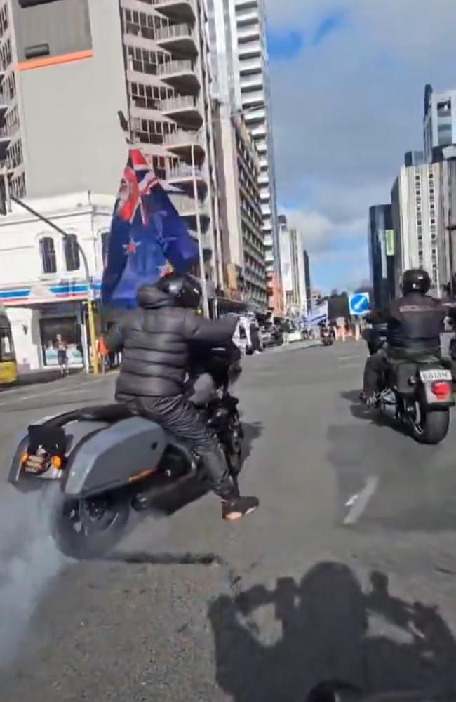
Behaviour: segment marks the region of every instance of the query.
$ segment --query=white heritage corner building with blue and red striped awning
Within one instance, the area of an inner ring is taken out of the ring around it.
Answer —
[[[68,345],[71,366],[87,363],[86,301],[100,296],[114,199],[75,192],[25,200],[66,232],[65,239],[15,204],[0,218],[0,303],[11,322],[20,373],[57,364],[57,334]]]

